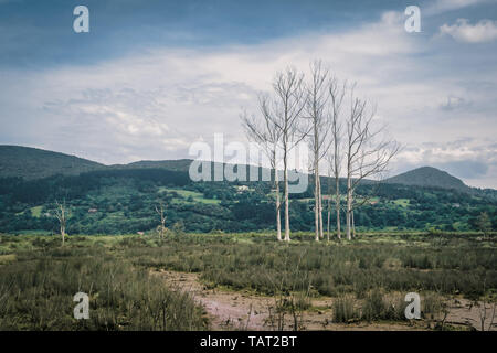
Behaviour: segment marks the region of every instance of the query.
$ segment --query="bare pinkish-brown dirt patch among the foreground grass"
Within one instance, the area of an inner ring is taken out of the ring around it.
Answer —
[[[274,298],[257,296],[247,291],[230,291],[208,289],[198,278],[198,274],[155,271],[165,279],[168,286],[190,292],[194,300],[205,308],[212,322],[213,330],[272,330],[269,308],[274,307]],[[332,298],[313,300],[313,310],[304,312],[303,329],[305,330],[363,330],[363,331],[411,331],[430,330],[434,323],[427,320],[415,322],[385,322],[385,323],[332,323]],[[468,300],[458,299],[447,302],[450,313],[446,323],[479,330],[479,308],[472,306]],[[486,330],[490,324],[491,310],[487,307]],[[285,329],[292,330],[292,318],[285,320]],[[496,325],[493,325],[496,330]]]

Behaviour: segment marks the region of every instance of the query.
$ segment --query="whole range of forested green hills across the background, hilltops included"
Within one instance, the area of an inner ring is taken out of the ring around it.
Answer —
[[[53,217],[56,200],[64,200],[71,207],[70,234],[152,231],[157,227],[158,202],[167,205],[168,227],[181,223],[188,232],[274,228],[272,183],[193,182],[188,173],[190,163],[183,159],[104,165],[63,153],[0,146],[0,232],[57,232]],[[332,180],[321,176],[325,194],[332,192],[330,185],[335,185]],[[345,186],[341,180],[342,195]],[[314,227],[313,192],[310,175],[308,189],[290,195],[295,231]],[[356,225],[362,231],[473,231],[475,220],[486,212],[495,228],[495,190],[468,188],[434,168],[421,168],[380,185],[361,183],[356,197],[373,197],[355,211]],[[335,217],[332,212],[331,224]]]

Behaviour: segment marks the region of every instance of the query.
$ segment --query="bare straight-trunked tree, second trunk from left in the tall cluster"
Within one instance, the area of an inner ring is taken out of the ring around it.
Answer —
[[[304,138],[300,118],[305,107],[304,75],[288,67],[277,73],[273,81],[275,99],[272,107],[274,124],[281,133],[283,152],[283,183],[285,202],[285,242],[289,242],[289,197],[288,197],[288,157],[292,149]]]

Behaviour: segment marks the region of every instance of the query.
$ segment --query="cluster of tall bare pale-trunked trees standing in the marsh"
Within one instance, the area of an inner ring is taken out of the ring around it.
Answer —
[[[390,160],[399,152],[399,145],[385,138],[384,126],[377,127],[376,109],[359,98],[355,85],[341,82],[320,61],[310,64],[306,75],[288,67],[273,79],[273,93],[258,97],[260,113],[242,114],[242,125],[250,140],[255,141],[271,162],[276,194],[277,239],[282,240],[281,207],[284,205],[284,240],[289,242],[288,154],[300,141],[310,147],[314,175],[315,239],[324,238],[322,191],[320,168],[326,163],[328,176],[334,179],[328,193],[327,237],[330,236],[331,193],[336,212],[336,231],[341,238],[341,217],[345,213],[347,238],[355,236],[353,211],[368,202],[356,197],[358,185],[366,179],[379,179]],[[283,203],[279,192],[278,168],[283,168]],[[345,175],[342,175],[342,170]],[[340,178],[347,180],[345,207]]]

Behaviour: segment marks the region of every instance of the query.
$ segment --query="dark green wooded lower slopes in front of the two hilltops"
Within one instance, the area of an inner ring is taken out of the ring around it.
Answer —
[[[322,189],[328,179],[322,178]],[[275,229],[275,199],[271,182],[191,182],[184,172],[115,170],[55,175],[36,181],[0,180],[0,232],[25,229],[59,232],[55,201],[70,211],[68,234],[123,234],[154,231],[155,206],[165,205],[166,226],[184,232],[250,232]],[[346,190],[345,181],[340,188]],[[313,179],[305,193],[292,194],[289,218],[295,231],[314,229]],[[193,192],[201,200],[182,195]],[[356,197],[376,194],[355,213],[359,229],[476,231],[486,212],[497,228],[496,203],[456,191],[393,184],[358,186]],[[403,200],[403,205],[399,204]],[[336,215],[330,214],[331,224]]]

